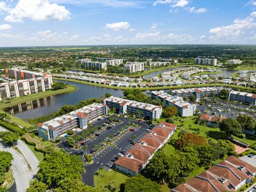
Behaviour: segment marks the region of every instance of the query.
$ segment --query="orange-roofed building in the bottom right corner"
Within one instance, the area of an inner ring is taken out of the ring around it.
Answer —
[[[255,174],[256,167],[230,156],[172,191],[236,191],[244,184],[251,183]]]

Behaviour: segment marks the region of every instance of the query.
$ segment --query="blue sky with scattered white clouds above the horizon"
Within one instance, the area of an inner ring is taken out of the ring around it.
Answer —
[[[0,0],[0,46],[256,44],[256,0]]]

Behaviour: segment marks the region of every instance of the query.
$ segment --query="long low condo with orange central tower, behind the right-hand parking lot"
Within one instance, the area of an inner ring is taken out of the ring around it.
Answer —
[[[179,89],[173,90],[172,94],[177,97],[190,98],[191,95],[195,95],[196,101],[200,101],[201,98],[210,98],[219,95],[219,90],[215,87],[200,87],[191,89]]]

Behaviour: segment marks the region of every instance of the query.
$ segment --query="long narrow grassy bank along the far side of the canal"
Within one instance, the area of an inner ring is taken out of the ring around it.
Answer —
[[[94,85],[94,86],[99,86],[99,87],[105,87],[108,89],[116,89],[116,90],[129,90],[129,89],[134,89],[131,87],[116,87],[116,86],[110,86],[110,85],[102,85],[102,84],[95,84],[95,83],[89,83],[89,82],[84,82],[84,81],[78,81],[74,79],[65,79],[65,78],[56,78],[54,79],[62,80],[62,81],[69,81],[69,82],[75,82],[75,83],[82,83],[86,85]],[[244,87],[244,86],[239,86],[239,85],[228,85],[228,84],[221,84],[221,83],[212,83],[212,84],[202,84],[202,85],[180,85],[180,86],[166,86],[166,87],[146,87],[146,88],[140,88],[137,87],[137,89],[141,91],[147,91],[147,90],[165,90],[165,89],[182,89],[182,88],[191,88],[191,87],[209,87],[209,86],[225,86],[225,87],[233,87],[233,88],[238,88],[238,89],[243,89],[243,90],[248,90],[248,91],[256,91],[256,89],[250,88],[250,87]]]

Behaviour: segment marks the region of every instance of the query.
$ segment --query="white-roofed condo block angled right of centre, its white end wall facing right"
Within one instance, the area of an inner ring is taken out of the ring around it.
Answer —
[[[183,101],[181,97],[174,97],[164,91],[152,91],[151,98],[160,99],[165,106],[176,107],[181,117],[193,116],[197,110],[197,105]]]

